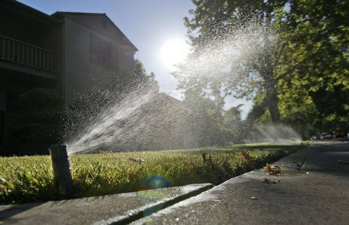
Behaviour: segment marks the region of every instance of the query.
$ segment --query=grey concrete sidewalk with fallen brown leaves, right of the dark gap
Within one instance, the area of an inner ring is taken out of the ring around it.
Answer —
[[[348,144],[310,146],[273,163],[281,177],[254,170],[133,224],[349,224],[349,165],[338,160]]]

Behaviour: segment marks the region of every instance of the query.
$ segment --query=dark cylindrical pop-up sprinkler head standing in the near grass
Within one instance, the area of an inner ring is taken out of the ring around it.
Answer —
[[[69,194],[72,185],[72,175],[70,174],[67,145],[53,145],[49,148],[54,184],[60,194]]]

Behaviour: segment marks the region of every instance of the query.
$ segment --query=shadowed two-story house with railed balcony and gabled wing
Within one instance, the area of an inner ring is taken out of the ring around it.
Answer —
[[[47,15],[20,2],[2,0],[0,154],[14,144],[10,129],[21,118],[21,93],[51,88],[69,101],[91,86],[122,82],[133,69],[136,51],[106,14]]]

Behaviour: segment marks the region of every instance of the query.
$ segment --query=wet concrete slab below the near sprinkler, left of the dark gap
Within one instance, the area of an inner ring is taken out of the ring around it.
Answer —
[[[148,191],[0,206],[0,224],[126,224],[211,188],[192,184]]]

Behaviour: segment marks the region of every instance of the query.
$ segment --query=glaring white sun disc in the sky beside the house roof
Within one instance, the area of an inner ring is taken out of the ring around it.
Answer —
[[[174,69],[174,65],[182,62],[187,57],[189,46],[185,40],[170,39],[166,41],[160,50],[161,61],[169,69]]]

